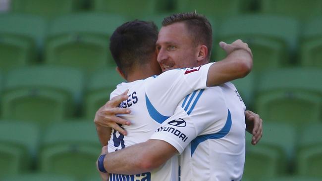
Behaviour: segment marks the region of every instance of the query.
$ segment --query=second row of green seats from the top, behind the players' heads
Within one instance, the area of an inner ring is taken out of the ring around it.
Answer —
[[[161,22],[163,17],[144,19]],[[254,70],[296,64],[322,68],[322,23],[319,18],[308,23],[303,34],[298,21],[282,16],[244,15],[226,19],[221,25],[212,23],[212,59],[225,57],[217,42],[232,43],[242,39],[252,48]],[[70,14],[52,21],[32,15],[0,15],[0,70],[39,64],[40,61],[80,67],[88,72],[115,66],[108,49],[109,37],[126,21],[123,16],[105,13]]]

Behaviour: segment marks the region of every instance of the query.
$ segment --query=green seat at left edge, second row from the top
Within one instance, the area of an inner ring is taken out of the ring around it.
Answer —
[[[0,70],[35,63],[45,37],[44,19],[26,14],[0,14]]]

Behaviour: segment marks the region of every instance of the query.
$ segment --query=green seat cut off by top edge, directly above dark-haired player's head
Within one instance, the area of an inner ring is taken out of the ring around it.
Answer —
[[[121,14],[134,20],[166,11],[164,4],[164,0],[93,0],[93,10]]]

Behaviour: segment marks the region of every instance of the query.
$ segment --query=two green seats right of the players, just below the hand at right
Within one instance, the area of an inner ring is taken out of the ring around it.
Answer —
[[[279,121],[263,126],[263,137],[253,146],[246,134],[244,178],[299,175],[322,178],[322,124],[302,126],[301,130]]]

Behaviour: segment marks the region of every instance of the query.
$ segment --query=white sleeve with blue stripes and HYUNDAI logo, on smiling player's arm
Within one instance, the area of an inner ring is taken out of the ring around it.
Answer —
[[[226,123],[228,108],[220,88],[206,90],[199,99],[192,99],[190,105],[187,101],[181,101],[173,116],[165,120],[150,139],[166,141],[181,154],[197,136],[218,133]],[[197,103],[193,107],[196,99]]]

